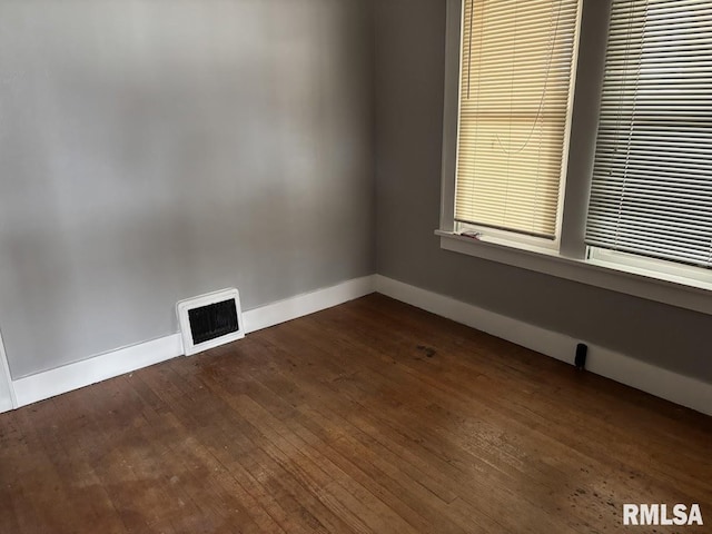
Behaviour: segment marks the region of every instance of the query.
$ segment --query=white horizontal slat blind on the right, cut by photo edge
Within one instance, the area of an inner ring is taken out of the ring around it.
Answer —
[[[712,2],[614,0],[586,243],[712,267]]]

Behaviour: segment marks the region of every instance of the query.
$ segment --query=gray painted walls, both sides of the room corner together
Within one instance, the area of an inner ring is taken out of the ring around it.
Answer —
[[[370,3],[0,0],[14,378],[377,269],[712,382],[709,316],[441,250],[445,1]]]

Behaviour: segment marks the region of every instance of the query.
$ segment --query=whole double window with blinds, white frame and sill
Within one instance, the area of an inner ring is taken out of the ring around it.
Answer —
[[[447,2],[441,247],[712,314],[712,2]]]

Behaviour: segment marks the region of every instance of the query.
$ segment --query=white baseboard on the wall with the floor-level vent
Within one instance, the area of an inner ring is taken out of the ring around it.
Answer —
[[[297,317],[363,297],[374,293],[374,290],[375,275],[370,275],[249,309],[243,313],[245,330],[250,333],[296,319]],[[79,389],[97,382],[181,356],[182,354],[180,334],[172,334],[19,378],[10,385],[10,389],[14,395],[12,406],[0,406],[0,412],[12,407],[19,408],[62,393]]]

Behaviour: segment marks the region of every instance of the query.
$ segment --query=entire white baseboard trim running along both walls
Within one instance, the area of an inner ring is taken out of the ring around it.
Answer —
[[[712,384],[599,347],[585,339],[574,339],[380,275],[356,278],[246,310],[243,313],[245,330],[249,334],[374,291],[568,364],[573,364],[576,344],[586,343],[586,368],[591,373],[712,415]],[[0,407],[0,412],[43,400],[182,354],[180,334],[172,334],[19,378],[10,385],[13,406]]]

